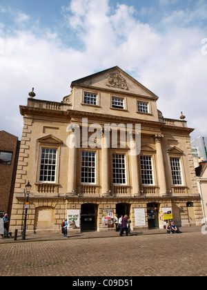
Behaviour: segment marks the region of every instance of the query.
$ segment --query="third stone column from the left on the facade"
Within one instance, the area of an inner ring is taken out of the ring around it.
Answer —
[[[135,133],[132,133],[132,135],[130,136],[130,148],[133,148],[134,142],[135,142]],[[130,164],[132,177],[132,195],[136,197],[141,195],[137,154],[130,155]]]

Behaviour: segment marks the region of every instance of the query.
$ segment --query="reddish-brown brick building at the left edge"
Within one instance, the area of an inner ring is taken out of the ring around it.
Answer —
[[[0,213],[8,215],[12,209],[19,146],[18,137],[0,131]]]

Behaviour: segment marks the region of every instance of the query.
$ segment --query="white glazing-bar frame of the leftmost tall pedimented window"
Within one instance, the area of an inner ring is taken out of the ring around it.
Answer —
[[[45,150],[45,151],[48,150],[49,152],[43,153],[43,150]],[[52,152],[50,152],[50,151],[52,151]],[[56,151],[55,158],[53,158],[53,155],[54,155],[53,151]],[[44,157],[43,157],[43,154],[44,154]],[[47,157],[46,155],[49,155],[48,158],[46,158]],[[51,157],[51,155],[52,155],[52,157]],[[58,155],[57,148],[48,148],[46,146],[41,147],[41,157],[40,157],[40,164],[39,164],[39,183],[56,183],[56,179],[57,179],[57,155]],[[48,160],[48,163],[46,163],[46,162],[42,163],[42,160],[44,160],[44,161]],[[41,168],[41,166],[43,166],[43,168]],[[51,168],[51,170],[48,170],[48,168],[46,168],[45,166],[51,166],[51,167],[55,166],[55,175],[52,175],[52,171],[54,172],[54,169]],[[41,171],[43,171],[43,174],[41,174]],[[44,173],[44,171],[46,172],[46,174]],[[50,171],[51,171],[51,173],[48,175],[48,172],[50,172]],[[41,176],[42,176],[42,180],[41,180]],[[53,176],[55,176],[55,180],[51,180]],[[44,177],[46,177],[46,180]]]

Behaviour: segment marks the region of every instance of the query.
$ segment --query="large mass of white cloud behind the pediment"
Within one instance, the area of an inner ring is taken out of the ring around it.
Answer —
[[[206,7],[206,3],[200,4]],[[72,0],[62,13],[70,32],[81,39],[81,50],[72,42],[67,48],[58,30],[42,30],[38,23],[35,30],[21,28],[14,37],[3,39],[3,130],[17,130],[16,135],[21,135],[18,106],[26,104],[32,87],[37,99],[61,101],[70,93],[72,80],[117,65],[159,96],[157,106],[164,117],[179,118],[183,111],[188,125],[197,128],[195,134],[207,135],[206,127],[199,126],[199,120],[204,123],[206,118],[207,55],[201,54],[201,39],[207,37],[204,30],[186,25],[155,30],[137,19],[135,8],[122,4],[112,9],[108,0]],[[172,23],[179,15],[181,23],[188,21],[188,11],[177,13],[165,14],[159,24],[167,19]],[[26,16],[19,19],[29,21]],[[193,17],[192,12],[192,21]]]

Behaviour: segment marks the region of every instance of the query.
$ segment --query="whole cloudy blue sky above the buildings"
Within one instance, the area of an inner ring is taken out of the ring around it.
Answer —
[[[1,0],[0,130],[21,139],[32,87],[61,101],[71,81],[119,66],[164,117],[183,111],[192,137],[207,135],[206,28],[205,0]]]

